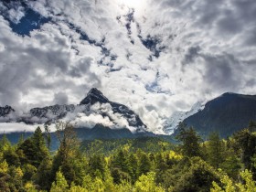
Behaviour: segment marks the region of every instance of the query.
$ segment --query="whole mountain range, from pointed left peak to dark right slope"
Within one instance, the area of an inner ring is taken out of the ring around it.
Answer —
[[[0,107],[2,123],[23,122],[37,126],[38,123],[54,123],[57,120],[77,123],[76,131],[82,140],[157,136],[147,131],[146,125],[135,112],[123,104],[110,101],[96,88],[91,89],[77,105],[57,104],[33,108],[21,115],[17,115],[10,106]],[[207,138],[211,132],[219,132],[221,137],[227,137],[247,127],[251,120],[256,120],[256,95],[228,92],[206,104],[197,102],[189,112],[174,113],[165,122],[165,139],[173,140],[168,134],[176,134],[178,123],[181,122],[193,126]]]

